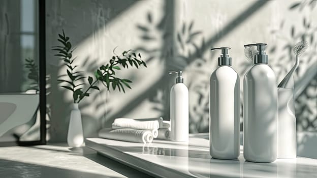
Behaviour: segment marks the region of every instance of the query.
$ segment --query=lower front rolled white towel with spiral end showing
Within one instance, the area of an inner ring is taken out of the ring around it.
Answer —
[[[151,131],[129,128],[114,130],[112,128],[104,128],[99,131],[99,137],[138,143],[151,143],[153,141]]]

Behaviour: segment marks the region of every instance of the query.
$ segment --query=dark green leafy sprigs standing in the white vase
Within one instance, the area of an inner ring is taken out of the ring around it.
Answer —
[[[123,51],[122,55],[112,56],[110,62],[107,65],[102,65],[96,72],[94,72],[94,76],[96,80],[93,80],[93,77],[88,76],[87,81],[88,84],[82,82],[82,79],[85,77],[81,75],[82,71],[77,71],[77,67],[74,66],[74,61],[76,57],[73,57],[72,53],[74,49],[72,49],[72,44],[70,42],[70,38],[67,37],[62,31],[62,34],[58,34],[57,41],[61,44],[60,46],[54,46],[52,50],[57,51],[55,56],[59,57],[59,60],[62,60],[64,65],[67,67],[66,73],[68,79],[58,79],[61,83],[65,83],[65,85],[61,85],[61,87],[66,88],[73,92],[74,103],[79,103],[84,97],[89,97],[89,90],[100,90],[98,86],[96,86],[98,81],[101,81],[106,87],[107,90],[112,86],[113,90],[118,88],[119,92],[124,92],[124,87],[128,87],[131,89],[129,83],[131,80],[121,79],[115,77],[115,70],[121,70],[120,66],[123,68],[136,67],[137,69],[143,65],[146,67],[144,61],[141,60],[141,54],[138,55],[132,50]],[[88,85],[85,91],[83,91],[82,85]]]

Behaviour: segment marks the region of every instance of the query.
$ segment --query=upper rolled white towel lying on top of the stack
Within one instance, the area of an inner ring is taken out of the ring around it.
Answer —
[[[160,128],[160,124],[158,124],[158,121],[137,121],[133,118],[116,118],[112,123],[112,128],[157,130]]]

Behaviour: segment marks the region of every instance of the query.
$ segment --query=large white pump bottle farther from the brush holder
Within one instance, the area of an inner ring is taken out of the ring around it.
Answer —
[[[240,78],[231,67],[227,47],[220,49],[219,67],[210,77],[209,143],[210,155],[236,159],[240,155]]]

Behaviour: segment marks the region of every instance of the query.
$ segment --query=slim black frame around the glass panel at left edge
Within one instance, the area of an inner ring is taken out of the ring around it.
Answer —
[[[0,142],[0,146],[27,146],[46,144],[46,42],[45,0],[38,0],[39,13],[39,83],[40,83],[40,140]]]

